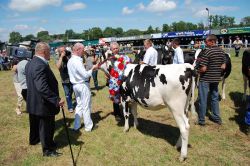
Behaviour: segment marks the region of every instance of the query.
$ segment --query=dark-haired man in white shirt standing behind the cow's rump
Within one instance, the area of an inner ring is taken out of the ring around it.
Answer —
[[[173,59],[173,64],[182,64],[184,63],[184,55],[183,51],[180,47],[180,40],[179,39],[174,39],[172,41],[172,46],[174,48],[174,59]]]

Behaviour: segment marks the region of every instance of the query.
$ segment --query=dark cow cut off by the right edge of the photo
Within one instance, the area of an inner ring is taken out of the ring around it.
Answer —
[[[247,99],[247,82],[248,82],[248,88],[250,88],[250,49],[246,49],[243,52],[242,75],[243,75],[243,81],[244,81],[243,100],[246,101],[246,99]]]

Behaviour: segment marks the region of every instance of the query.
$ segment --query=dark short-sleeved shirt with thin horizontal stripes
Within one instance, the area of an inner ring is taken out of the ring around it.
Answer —
[[[204,55],[200,57],[200,66],[206,66],[205,73],[200,74],[200,81],[203,82],[219,82],[221,80],[221,65],[226,63],[224,51],[213,46],[204,51]]]

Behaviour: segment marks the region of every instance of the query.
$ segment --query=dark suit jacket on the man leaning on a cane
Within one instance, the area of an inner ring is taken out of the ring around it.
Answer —
[[[26,65],[27,112],[37,116],[54,116],[60,111],[58,82],[42,59],[34,56]]]

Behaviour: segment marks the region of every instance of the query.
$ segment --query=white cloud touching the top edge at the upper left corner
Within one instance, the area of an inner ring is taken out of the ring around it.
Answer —
[[[62,0],[11,0],[9,8],[20,12],[36,11],[44,6],[59,6]]]

